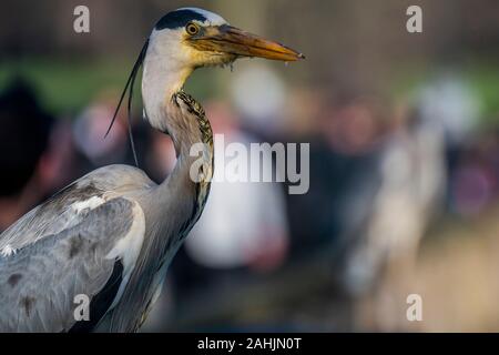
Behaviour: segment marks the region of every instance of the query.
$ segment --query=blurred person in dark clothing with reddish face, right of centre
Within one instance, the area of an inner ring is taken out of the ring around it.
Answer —
[[[357,225],[365,213],[359,205],[347,215],[354,195],[369,191],[383,120],[369,98],[322,94],[313,102],[316,131],[295,139],[310,142],[310,189],[287,195],[292,252],[307,255],[325,247],[337,250],[340,236]],[[297,120],[299,121],[299,120]]]

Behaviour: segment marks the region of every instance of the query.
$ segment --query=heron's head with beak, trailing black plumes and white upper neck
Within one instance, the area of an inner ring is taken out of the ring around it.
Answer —
[[[144,112],[151,125],[164,131],[160,112],[164,102],[184,84],[193,70],[224,65],[238,58],[265,58],[292,62],[305,57],[283,44],[232,27],[216,13],[182,8],[157,21],[129,77],[108,133],[128,93],[129,120],[133,85],[141,67]],[[166,100],[165,100],[166,99]],[[106,134],[108,134],[106,133]]]

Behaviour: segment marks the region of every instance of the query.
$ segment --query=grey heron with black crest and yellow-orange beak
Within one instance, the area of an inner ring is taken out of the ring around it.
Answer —
[[[144,119],[171,136],[177,155],[173,172],[155,184],[133,166],[98,169],[4,231],[0,331],[133,332],[141,326],[210,192],[211,125],[182,88],[195,69],[231,64],[242,57],[286,62],[303,58],[205,10],[183,8],[160,19],[120,104],[130,90],[130,109],[143,65]],[[201,158],[191,154],[197,143],[203,146]],[[191,170],[200,159],[193,179]],[[89,321],[74,316],[79,295],[90,300]]]

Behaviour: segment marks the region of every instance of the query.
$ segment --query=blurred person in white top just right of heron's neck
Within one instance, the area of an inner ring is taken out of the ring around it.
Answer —
[[[249,143],[255,139],[238,129],[237,119],[226,105],[216,102],[208,110],[214,132],[223,134],[225,144],[237,142],[249,150]],[[225,152],[215,153],[215,169],[223,169]],[[258,163],[248,162],[248,174]],[[287,223],[279,186],[263,182],[215,181],[212,193],[205,215],[186,242],[190,255],[213,268],[247,266],[265,271],[277,267],[287,250]]]

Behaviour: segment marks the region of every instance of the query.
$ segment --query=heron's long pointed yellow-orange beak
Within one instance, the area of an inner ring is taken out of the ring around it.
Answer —
[[[291,48],[227,24],[207,28],[202,37],[192,39],[191,43],[203,51],[236,57],[257,57],[285,62],[305,59],[305,55]]]

